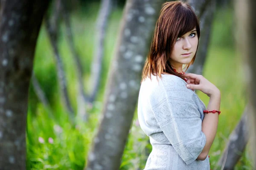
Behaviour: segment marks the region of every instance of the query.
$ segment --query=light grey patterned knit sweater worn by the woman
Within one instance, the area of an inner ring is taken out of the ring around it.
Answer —
[[[198,161],[206,144],[202,132],[204,103],[175,75],[151,75],[142,82],[138,101],[141,129],[152,145],[144,170],[209,170]]]

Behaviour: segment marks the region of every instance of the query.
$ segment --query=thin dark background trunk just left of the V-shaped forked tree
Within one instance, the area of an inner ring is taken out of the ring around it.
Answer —
[[[57,64],[57,72],[58,72],[58,80],[59,84],[61,86],[61,92],[63,95],[63,100],[65,102],[65,106],[67,107],[69,113],[70,113],[70,121],[73,123],[74,121],[74,110],[73,107],[71,106],[70,98],[68,95],[68,90],[67,90],[67,78],[65,75],[64,71],[64,66],[63,66],[63,61],[61,59],[61,56],[58,51],[58,21],[59,21],[59,14],[61,10],[61,3],[60,0],[56,0],[56,9],[54,11],[54,14],[50,18],[48,15],[46,16],[46,29],[49,34],[50,38],[50,43],[52,45],[53,51],[54,51],[54,56]]]

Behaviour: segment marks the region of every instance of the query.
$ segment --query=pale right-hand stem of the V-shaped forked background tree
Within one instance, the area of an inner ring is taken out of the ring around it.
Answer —
[[[111,13],[112,0],[101,0],[101,8],[97,18],[96,30],[99,33],[96,36],[94,48],[93,63],[91,65],[91,93],[90,102],[93,102],[99,90],[100,75],[102,72],[102,58],[104,56],[104,41],[106,37],[106,29],[108,24],[109,14]]]

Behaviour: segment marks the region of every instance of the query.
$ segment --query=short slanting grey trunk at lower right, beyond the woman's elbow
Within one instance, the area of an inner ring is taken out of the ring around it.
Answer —
[[[249,139],[249,131],[247,127],[248,114],[249,109],[247,106],[236,129],[230,134],[224,153],[218,161],[218,166],[221,167],[222,170],[234,170],[237,161],[239,161],[244,152]]]

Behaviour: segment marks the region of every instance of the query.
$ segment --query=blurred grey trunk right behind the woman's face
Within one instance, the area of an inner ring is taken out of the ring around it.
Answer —
[[[216,10],[216,0],[187,0],[187,2],[198,15],[201,25],[201,37],[195,62],[189,67],[187,72],[202,75],[210,41],[213,16]]]

